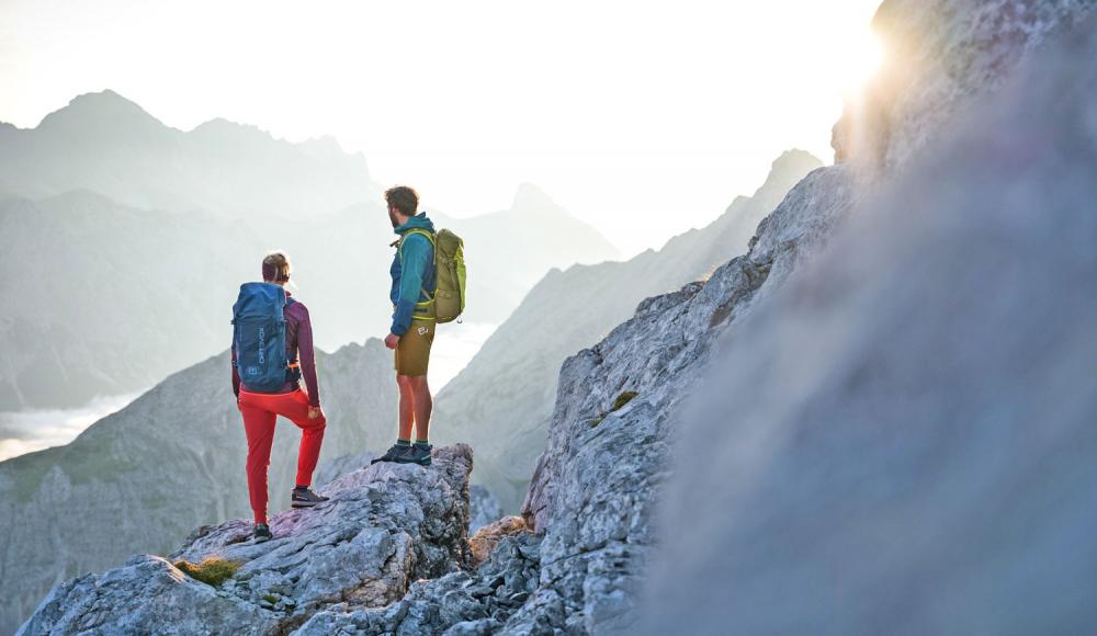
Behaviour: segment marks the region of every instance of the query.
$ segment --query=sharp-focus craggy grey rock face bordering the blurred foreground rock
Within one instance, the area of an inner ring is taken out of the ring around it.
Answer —
[[[720,334],[825,239],[852,197],[844,168],[816,170],[762,223],[747,254],[708,282],[642,303],[565,363],[523,506],[544,534],[541,587],[516,624],[550,612],[564,620],[555,627],[583,633],[635,620],[651,519],[670,470],[671,416],[691,398]],[[626,391],[635,396],[619,399]]]

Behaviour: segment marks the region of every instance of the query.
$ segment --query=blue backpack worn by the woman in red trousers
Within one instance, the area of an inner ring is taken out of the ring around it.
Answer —
[[[233,305],[233,347],[240,382],[250,390],[276,393],[289,377],[285,306],[292,302],[281,285],[240,285]]]

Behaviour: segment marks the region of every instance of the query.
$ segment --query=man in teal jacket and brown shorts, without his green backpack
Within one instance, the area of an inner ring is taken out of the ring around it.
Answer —
[[[389,273],[393,285],[393,325],[385,345],[395,350],[396,385],[400,391],[399,430],[396,444],[373,461],[430,465],[430,411],[433,402],[427,385],[430,347],[434,342],[434,224],[417,213],[419,195],[398,185],[385,192],[388,218],[399,235]],[[415,443],[411,430],[415,429]]]

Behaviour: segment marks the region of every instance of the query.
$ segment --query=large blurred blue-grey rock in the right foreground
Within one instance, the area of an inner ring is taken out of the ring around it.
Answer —
[[[1095,104],[1097,18],[733,334],[681,418],[641,633],[1093,629]]]

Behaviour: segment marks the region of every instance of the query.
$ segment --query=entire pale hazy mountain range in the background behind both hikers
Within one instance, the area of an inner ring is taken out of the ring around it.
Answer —
[[[0,129],[0,410],[142,389],[223,350],[238,285],[272,248],[294,260],[318,344],[387,332],[395,237],[364,160],[333,141],[223,121],[181,133],[108,91]],[[618,254],[532,185],[507,211],[429,214],[465,238],[470,322],[501,321],[550,268]]]

